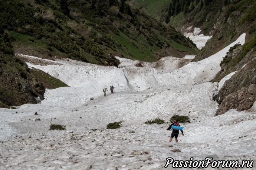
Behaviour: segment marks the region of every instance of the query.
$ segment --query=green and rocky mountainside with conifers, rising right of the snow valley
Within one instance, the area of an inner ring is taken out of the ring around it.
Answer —
[[[181,33],[193,32],[193,28],[196,27],[202,30],[201,33],[212,35],[213,37],[206,43],[205,47],[201,49],[193,61],[200,61],[213,55],[236,40],[241,34],[246,33],[245,44],[243,46],[234,46],[230,49],[229,54],[226,55],[220,64],[221,71],[212,80],[212,82],[219,82],[224,76],[237,71],[222,86],[222,89],[214,99],[221,104],[226,96],[236,95],[243,87],[246,88],[250,84],[256,84],[254,78],[254,68],[256,65],[253,62],[256,51],[255,0],[165,1],[164,3],[169,3],[169,6],[160,5],[163,4],[160,1],[151,3],[148,1],[129,1],[129,3],[143,11],[147,11],[148,14],[151,14],[152,17],[157,18],[159,21],[170,24]],[[158,11],[156,16],[148,11],[154,3],[159,4],[154,8],[154,11]],[[245,66],[245,64],[247,65]],[[241,69],[242,67],[244,69]],[[225,103],[233,103],[231,108],[237,108],[237,104],[230,101],[230,97]]]

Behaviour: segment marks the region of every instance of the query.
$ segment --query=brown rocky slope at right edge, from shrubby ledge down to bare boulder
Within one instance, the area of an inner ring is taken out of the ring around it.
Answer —
[[[236,59],[240,51],[241,48],[238,47],[232,53],[228,53],[227,57],[231,58],[232,61]],[[217,95],[213,96],[213,99],[220,104],[216,115],[222,115],[230,109],[237,109],[238,111],[250,109],[256,100],[256,52],[253,50],[248,52],[233,68],[231,64],[229,62],[221,65],[220,78],[225,75],[225,72],[236,71],[236,74],[224,83]]]

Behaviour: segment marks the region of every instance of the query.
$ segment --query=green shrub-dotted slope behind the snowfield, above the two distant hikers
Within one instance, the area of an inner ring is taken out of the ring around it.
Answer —
[[[109,5],[96,0],[93,6],[89,0],[73,1],[68,4],[68,17],[57,0],[37,2],[1,2],[0,21],[15,38],[14,52],[49,59],[68,57],[100,65],[118,64],[108,54],[157,61],[156,54],[162,53],[164,47],[172,47],[173,41],[181,47],[185,45],[187,54],[198,52],[185,37],[171,38],[170,29],[153,18],[132,9],[120,13],[118,3]],[[4,17],[6,13],[10,13],[10,18]]]

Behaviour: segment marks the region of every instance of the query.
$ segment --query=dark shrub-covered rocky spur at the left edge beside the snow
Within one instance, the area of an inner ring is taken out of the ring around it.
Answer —
[[[38,97],[44,99],[44,86],[30,74],[27,65],[14,55],[2,56],[0,70],[0,107],[37,103]]]

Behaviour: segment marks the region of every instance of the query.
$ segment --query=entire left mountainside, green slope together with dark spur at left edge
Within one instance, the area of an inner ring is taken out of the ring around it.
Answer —
[[[34,82],[35,76],[40,76],[40,90],[46,86],[46,82],[52,85],[56,82],[50,81],[50,78],[47,80],[47,76],[40,72],[33,71],[34,75],[30,74],[26,64],[13,53],[52,60],[58,57],[70,58],[118,67],[116,55],[152,62],[168,55],[184,57],[199,52],[191,40],[173,27],[164,27],[147,14],[121,2],[0,1],[1,67],[4,70],[0,77],[3,80],[1,85],[4,86],[1,90],[1,106],[35,103],[34,97],[43,99],[43,93],[35,92],[38,89],[33,87],[38,86]],[[8,72],[13,74],[6,74]],[[27,84],[24,86],[28,88],[23,89],[27,90],[20,90],[19,86],[23,83],[16,86],[23,82],[23,79],[18,80],[17,75],[24,76],[24,83]],[[6,81],[6,78],[13,81]],[[62,85],[65,86],[60,83],[55,87]],[[26,97],[20,95],[23,93]]]

